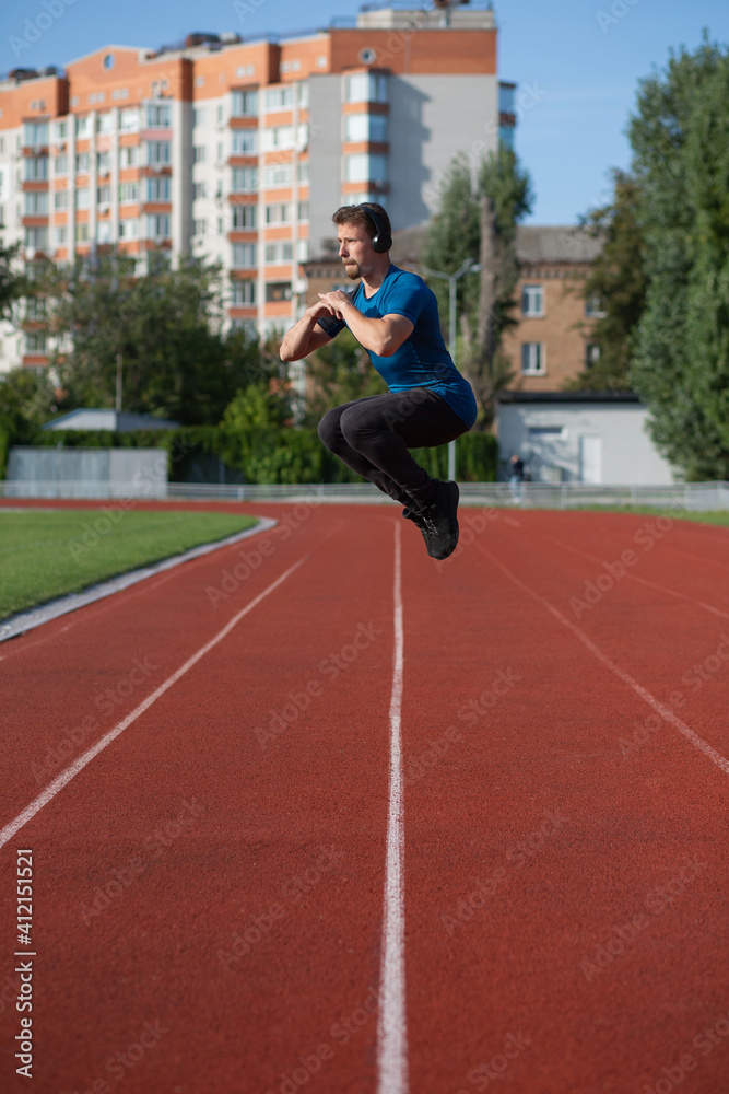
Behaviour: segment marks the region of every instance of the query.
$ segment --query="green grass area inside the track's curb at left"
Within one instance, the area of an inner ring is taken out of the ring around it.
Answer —
[[[254,524],[233,513],[0,509],[0,619]]]

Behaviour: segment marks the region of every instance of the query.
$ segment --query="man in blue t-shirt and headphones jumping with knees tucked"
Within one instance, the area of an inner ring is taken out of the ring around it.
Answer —
[[[433,558],[458,543],[458,486],[433,479],[410,449],[446,444],[475,421],[470,384],[457,371],[440,334],[434,293],[416,274],[390,263],[390,222],[381,206],[342,206],[332,217],[352,293],[320,292],[281,345],[282,361],[298,361],[344,326],[369,353],[387,383],[330,410],[319,422],[322,443],[358,475],[403,504]]]

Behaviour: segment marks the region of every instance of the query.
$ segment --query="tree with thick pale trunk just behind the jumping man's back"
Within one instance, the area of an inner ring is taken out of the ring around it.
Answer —
[[[481,265],[480,278],[467,276],[457,282],[456,305],[463,347],[461,371],[481,406],[482,427],[491,424],[494,396],[512,379],[499,347],[504,331],[515,322],[516,230],[530,208],[529,176],[510,149],[499,147],[475,168],[459,154],[446,172],[439,210],[428,231],[425,266],[455,274],[468,258]],[[448,314],[447,282],[433,279],[431,287],[443,317]]]

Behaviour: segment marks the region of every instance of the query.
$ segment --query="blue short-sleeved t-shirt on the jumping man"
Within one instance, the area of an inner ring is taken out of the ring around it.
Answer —
[[[379,289],[367,299],[361,281],[352,296],[354,306],[371,319],[384,315],[404,315],[413,324],[410,337],[392,357],[369,360],[391,392],[428,387],[446,400],[470,429],[475,421],[475,398],[471,385],[454,364],[440,334],[438,302],[432,289],[416,274],[390,266]],[[344,319],[319,319],[319,325],[334,338],[345,326]]]

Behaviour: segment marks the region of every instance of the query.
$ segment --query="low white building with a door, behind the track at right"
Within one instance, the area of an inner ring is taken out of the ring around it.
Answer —
[[[627,392],[504,392],[496,423],[501,477],[516,453],[534,482],[670,486],[677,475],[647,419]]]

